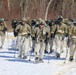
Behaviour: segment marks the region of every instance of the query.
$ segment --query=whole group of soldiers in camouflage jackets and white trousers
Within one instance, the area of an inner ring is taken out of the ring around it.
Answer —
[[[69,61],[73,61],[76,49],[75,20],[64,19],[62,16],[48,21],[42,18],[36,20],[22,18],[22,20],[12,20],[11,26],[14,36],[17,37],[18,58],[27,59],[30,51],[34,50],[35,62],[43,63],[44,53],[53,52],[53,45],[56,58],[60,58],[65,45],[66,50],[70,48]],[[4,37],[2,34],[6,30],[5,21],[0,21],[0,38]],[[2,45],[3,42],[0,47]]]

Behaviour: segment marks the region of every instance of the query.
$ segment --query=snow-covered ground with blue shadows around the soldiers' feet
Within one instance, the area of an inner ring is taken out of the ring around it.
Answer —
[[[8,35],[13,35],[9,33]],[[60,59],[56,59],[54,54],[44,57],[44,63],[34,63],[34,54],[31,61],[18,59],[18,51],[13,46],[15,40],[6,38],[3,49],[0,50],[0,75],[76,75],[75,62],[64,64],[65,53]],[[12,47],[11,47],[12,45]],[[48,63],[49,59],[49,63]]]

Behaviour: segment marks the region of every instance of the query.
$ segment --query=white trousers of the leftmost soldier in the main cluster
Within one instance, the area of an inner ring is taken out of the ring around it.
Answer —
[[[19,43],[19,56],[27,56],[30,50],[30,40],[29,37],[21,37]]]

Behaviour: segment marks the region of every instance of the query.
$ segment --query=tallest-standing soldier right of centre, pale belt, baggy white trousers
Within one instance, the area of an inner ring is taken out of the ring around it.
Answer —
[[[60,54],[63,52],[64,37],[67,34],[67,25],[64,24],[62,16],[58,18],[58,24],[55,24],[55,53],[56,57],[60,58]]]

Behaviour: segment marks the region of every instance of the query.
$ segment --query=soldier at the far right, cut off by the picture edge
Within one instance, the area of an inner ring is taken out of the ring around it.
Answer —
[[[76,21],[71,23],[71,27],[69,28],[69,37],[70,37],[70,57],[69,60],[74,60],[74,54],[76,51]],[[76,58],[75,58],[76,59]]]

